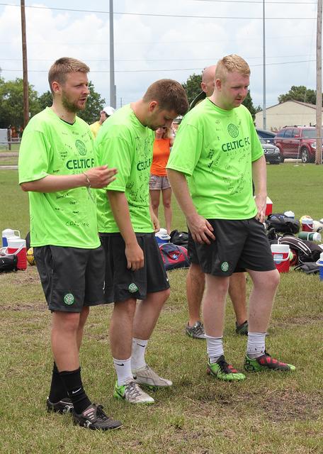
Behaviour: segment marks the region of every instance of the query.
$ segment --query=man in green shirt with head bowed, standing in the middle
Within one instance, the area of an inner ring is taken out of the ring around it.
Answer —
[[[149,206],[149,176],[154,131],[171,126],[187,110],[181,84],[162,79],[142,99],[116,111],[96,138],[99,163],[118,168],[115,181],[98,191],[98,231],[106,250],[106,300],[115,303],[110,326],[114,396],[132,404],[154,402],[140,385],[172,384],[145,361],[147,342],[169,297],[154,238],[159,226]]]

